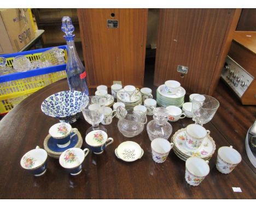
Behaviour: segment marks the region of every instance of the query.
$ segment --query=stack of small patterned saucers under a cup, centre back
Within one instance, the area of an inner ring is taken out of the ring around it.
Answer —
[[[123,102],[127,110],[133,110],[135,106],[142,104],[141,92],[138,92],[135,96],[126,99],[124,96],[124,89],[121,89],[117,93],[117,101]]]

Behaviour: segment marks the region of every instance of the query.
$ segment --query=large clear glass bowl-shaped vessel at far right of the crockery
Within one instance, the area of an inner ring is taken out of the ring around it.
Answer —
[[[209,95],[196,95],[192,100],[192,114],[195,124],[206,124],[214,117],[219,101]]]

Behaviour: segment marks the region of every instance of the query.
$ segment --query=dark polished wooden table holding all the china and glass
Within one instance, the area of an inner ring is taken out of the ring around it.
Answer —
[[[125,138],[118,131],[116,118],[106,126],[108,136],[114,138],[114,143],[101,155],[89,152],[81,174],[69,175],[60,166],[59,160],[51,157],[48,158],[48,170],[43,176],[37,178],[28,174],[20,166],[22,155],[36,145],[43,147],[50,126],[58,122],[42,113],[40,105],[49,95],[66,89],[66,80],[51,84],[22,101],[0,121],[1,199],[256,198],[255,168],[245,150],[246,132],[254,122],[255,107],[241,106],[222,82],[214,93],[220,107],[213,120],[204,126],[211,131],[217,149],[232,145],[242,155],[242,162],[228,175],[219,173],[215,167],[216,150],[209,163],[210,174],[198,187],[188,185],[184,179],[184,161],[171,151],[165,163],[155,163],[146,126],[138,136]],[[153,87],[153,91],[155,93],[156,87]],[[151,119],[148,117],[148,120]],[[191,123],[193,121],[188,118],[172,123],[173,133]],[[83,118],[72,126],[78,128],[83,138],[90,127]],[[144,155],[140,160],[126,163],[115,156],[114,149],[126,140],[141,145]],[[86,147],[84,143],[82,148]],[[240,187],[242,192],[233,192],[232,187]]]

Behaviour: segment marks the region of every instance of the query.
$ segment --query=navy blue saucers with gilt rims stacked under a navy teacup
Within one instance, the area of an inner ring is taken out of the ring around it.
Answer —
[[[71,133],[72,135],[73,133]],[[57,146],[56,139],[50,136],[45,137],[44,139],[44,149],[48,153],[50,157],[53,158],[60,158],[63,151],[69,149],[69,148],[81,148],[83,144],[83,138],[80,134],[80,132],[77,132],[77,135],[73,136],[70,139],[70,144],[66,146],[65,148],[60,148]]]

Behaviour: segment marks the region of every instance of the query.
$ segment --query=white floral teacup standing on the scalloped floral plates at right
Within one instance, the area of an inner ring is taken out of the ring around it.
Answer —
[[[186,136],[185,136],[185,144],[190,149],[198,149],[203,139],[210,134],[209,130],[206,130],[199,124],[189,124],[186,127]]]

